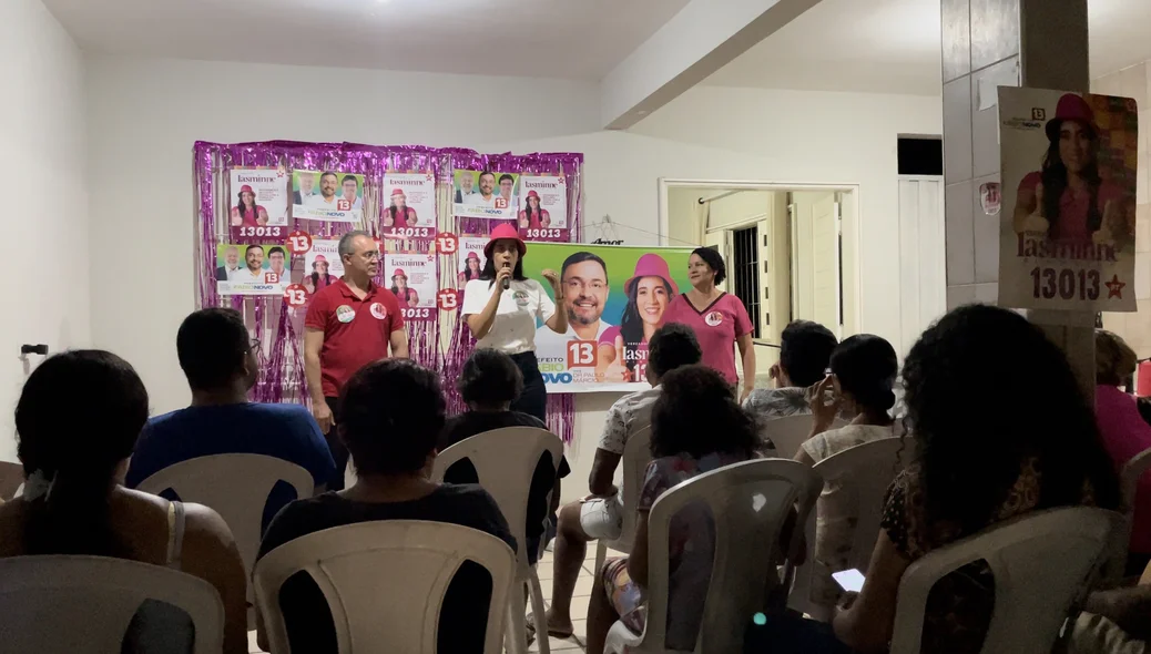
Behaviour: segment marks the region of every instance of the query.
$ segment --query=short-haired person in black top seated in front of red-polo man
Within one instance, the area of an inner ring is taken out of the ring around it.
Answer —
[[[516,549],[503,514],[486,490],[429,479],[435,440],[444,424],[439,373],[406,359],[371,363],[344,386],[340,417],[336,427],[356,462],[356,485],[284,507],[264,534],[260,557],[292,539],[369,520],[452,523],[496,535]],[[381,599],[390,598],[387,601],[405,601],[405,588],[399,586],[379,588],[379,593]],[[491,576],[465,562],[444,595],[439,652],[483,651],[490,595]],[[337,651],[331,613],[311,576],[290,577],[280,599],[292,652]],[[260,644],[267,649],[262,628]]]

